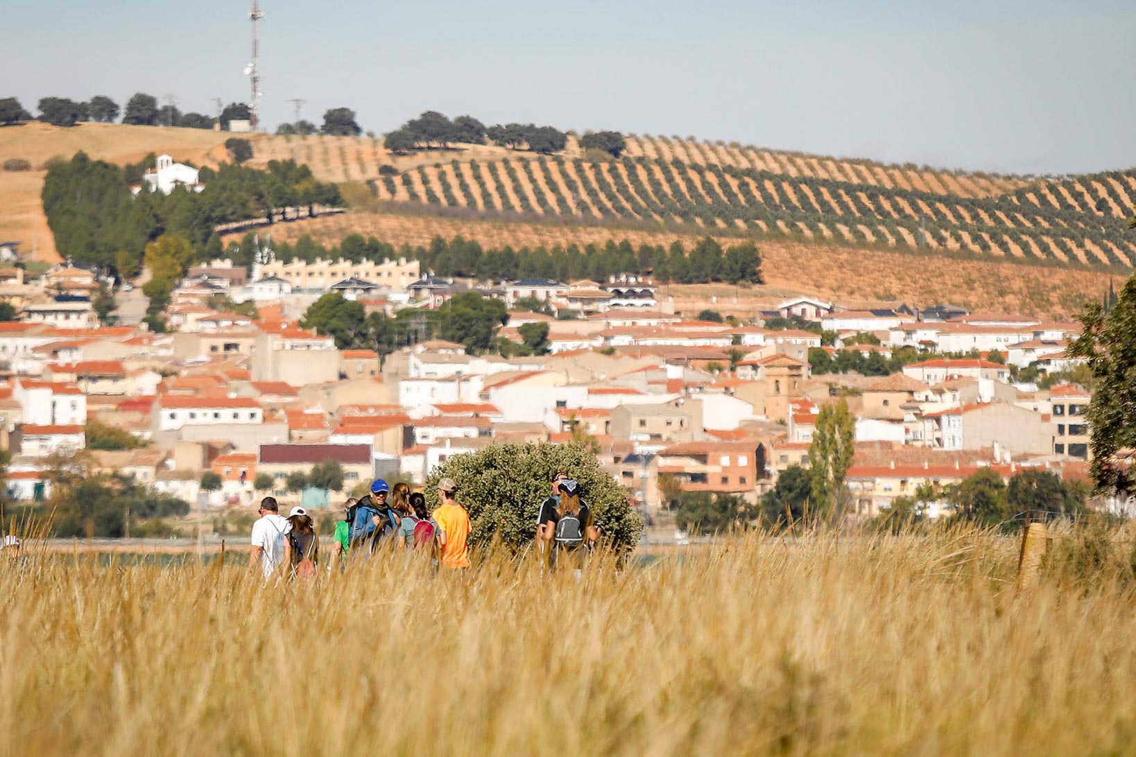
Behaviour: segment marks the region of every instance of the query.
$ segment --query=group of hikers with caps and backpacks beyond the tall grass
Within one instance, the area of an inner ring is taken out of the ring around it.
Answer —
[[[375,479],[369,494],[344,503],[326,564],[308,511],[293,507],[284,518],[276,499],[265,497],[260,518],[252,524],[250,565],[253,570],[259,566],[265,579],[286,570],[294,579],[312,580],[320,567],[334,572],[349,560],[367,560],[394,545],[427,552],[443,569],[467,569],[473,524],[457,494],[453,479],[441,479],[437,496],[442,504],[429,512],[423,493],[411,491],[407,483],[392,488],[384,479]],[[567,473],[557,473],[552,495],[541,503],[536,523],[535,541],[542,560],[550,569],[563,563],[565,569],[580,571],[600,533],[591,508],[580,499],[579,483]]]

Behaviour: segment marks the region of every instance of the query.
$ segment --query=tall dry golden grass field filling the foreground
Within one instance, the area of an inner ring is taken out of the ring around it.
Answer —
[[[399,554],[265,587],[33,549],[0,566],[0,752],[1122,754],[1112,537],[1059,536],[1021,596],[1018,541],[980,531],[746,533],[582,581]]]

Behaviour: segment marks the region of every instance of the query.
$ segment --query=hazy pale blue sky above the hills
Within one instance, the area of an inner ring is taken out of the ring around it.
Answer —
[[[854,6],[854,7],[853,7]],[[0,96],[214,112],[248,100],[248,2],[5,0]],[[348,106],[387,132],[485,123],[695,135],[972,169],[1136,166],[1136,3],[1121,0],[264,0],[264,117]],[[19,42],[25,40],[26,43]],[[9,42],[14,40],[9,37]]]

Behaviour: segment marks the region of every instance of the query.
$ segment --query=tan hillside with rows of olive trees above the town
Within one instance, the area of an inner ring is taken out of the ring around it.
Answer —
[[[169,152],[215,165],[228,136],[103,124],[0,129],[0,160],[36,169],[0,173],[0,237],[53,255],[39,202],[53,155],[85,150],[123,165]],[[1136,264],[1133,170],[1028,179],[644,135],[629,136],[618,160],[583,154],[576,137],[544,157],[493,145],[401,155],[370,137],[249,136],[251,165],[308,163],[351,200],[346,216],[277,226],[278,238],[335,244],[358,232],[420,244],[461,233],[551,246],[752,236],[778,286],[866,301],[1009,298],[1006,306],[1066,312]]]

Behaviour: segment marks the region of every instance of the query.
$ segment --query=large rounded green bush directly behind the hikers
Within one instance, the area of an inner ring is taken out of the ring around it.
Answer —
[[[532,541],[541,503],[551,494],[558,471],[579,481],[580,496],[603,527],[604,541],[619,552],[634,549],[643,519],[632,510],[623,487],[579,444],[502,444],[454,455],[426,478],[426,502],[431,510],[437,507],[438,479],[452,478],[458,502],[474,522],[470,541],[487,544],[500,536],[519,548]]]

